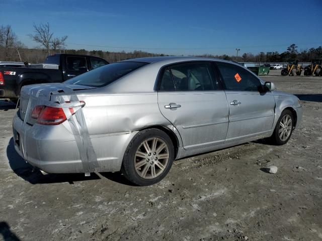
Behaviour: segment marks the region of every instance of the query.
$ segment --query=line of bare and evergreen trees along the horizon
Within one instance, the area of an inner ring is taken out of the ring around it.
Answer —
[[[110,52],[102,50],[88,51],[85,49],[66,49],[65,41],[68,36],[57,37],[50,29],[49,23],[33,24],[34,32],[28,36],[37,44],[37,48],[28,48],[13,31],[10,25],[0,26],[0,61],[28,61],[29,63],[41,63],[47,55],[54,53],[84,54],[92,55],[106,59],[110,63],[130,58],[167,56],[165,54],[154,54],[140,50],[133,52]],[[286,51],[260,52],[258,54],[244,53],[241,56],[235,55],[196,55],[200,57],[219,58],[225,60],[234,60],[237,62],[287,62],[290,58],[297,58],[300,62],[310,62],[312,59],[322,58],[322,46],[304,50],[297,50],[295,44],[291,44]]]

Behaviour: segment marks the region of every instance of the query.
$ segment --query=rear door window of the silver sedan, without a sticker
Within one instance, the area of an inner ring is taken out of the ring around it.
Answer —
[[[168,67],[161,79],[161,91],[216,90],[211,63],[184,63]]]

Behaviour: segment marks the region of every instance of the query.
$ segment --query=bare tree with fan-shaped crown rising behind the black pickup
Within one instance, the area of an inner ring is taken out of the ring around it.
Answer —
[[[50,45],[52,41],[52,36],[54,33],[50,32],[49,23],[46,24],[33,24],[35,34],[29,34],[28,36],[35,42],[44,46],[47,51],[48,55],[50,54]]]

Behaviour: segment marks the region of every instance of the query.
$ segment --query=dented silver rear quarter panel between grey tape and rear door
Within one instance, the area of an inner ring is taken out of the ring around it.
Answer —
[[[160,113],[157,93],[108,95],[77,94],[85,101],[83,112],[90,135],[139,131],[149,126],[169,126]],[[68,126],[66,128],[71,132]]]

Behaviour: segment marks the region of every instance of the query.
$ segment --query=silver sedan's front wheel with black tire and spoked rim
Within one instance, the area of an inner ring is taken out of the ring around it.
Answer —
[[[283,123],[288,123],[288,120],[291,119],[290,125],[287,125],[287,132],[280,131],[280,130],[286,130],[282,127]],[[282,124],[281,124],[282,123]],[[290,128],[290,129],[289,129]],[[288,140],[291,138],[294,128],[294,116],[292,112],[289,109],[284,109],[281,113],[281,116],[279,117],[276,127],[274,129],[273,135],[271,136],[271,143],[277,146],[284,145],[288,142]],[[285,133],[285,136],[284,134]],[[287,135],[287,136],[286,136]]]

